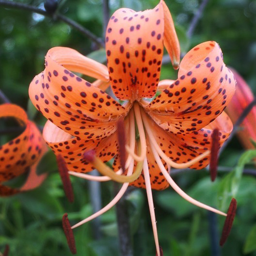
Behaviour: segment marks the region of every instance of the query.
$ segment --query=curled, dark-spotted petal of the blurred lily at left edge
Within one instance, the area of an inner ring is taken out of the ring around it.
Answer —
[[[46,144],[35,124],[28,120],[26,113],[14,104],[0,105],[0,117],[14,117],[24,132],[12,141],[0,146],[0,181],[19,176],[35,164],[46,150]]]

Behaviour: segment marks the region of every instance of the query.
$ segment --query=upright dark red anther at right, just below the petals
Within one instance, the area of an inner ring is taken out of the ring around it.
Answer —
[[[214,181],[217,176],[219,149],[220,149],[220,136],[219,136],[219,129],[216,128],[212,132],[212,142],[211,142],[211,153],[210,153],[211,181]]]

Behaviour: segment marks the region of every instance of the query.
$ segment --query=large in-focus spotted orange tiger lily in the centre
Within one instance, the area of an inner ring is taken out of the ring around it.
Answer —
[[[160,81],[164,46],[173,66],[179,66],[175,81]],[[226,216],[183,192],[168,171],[208,165],[213,129],[219,130],[220,145],[232,130],[223,111],[236,82],[213,41],[192,48],[179,65],[179,44],[163,0],[144,12],[117,10],[107,27],[106,53],[108,67],[73,49],[51,48],[45,70],[29,88],[33,104],[48,118],[43,137],[63,157],[69,174],[123,183],[106,207],[80,223],[71,227],[65,215],[65,233],[73,248],[70,230],[111,208],[133,185],[146,189],[160,256],[151,189],[171,185],[192,204]],[[90,83],[71,71],[96,80]],[[104,91],[109,85],[115,98]],[[123,131],[117,128],[119,122],[123,122]],[[123,141],[118,139],[122,136]],[[112,158],[113,170],[105,164]],[[120,158],[125,158],[125,164]],[[86,174],[94,168],[103,176]]]

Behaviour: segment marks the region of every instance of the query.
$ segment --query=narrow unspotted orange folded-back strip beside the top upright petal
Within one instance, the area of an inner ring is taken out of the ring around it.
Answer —
[[[173,22],[171,13],[166,3],[163,0],[161,0],[161,3],[163,5],[163,14],[164,14],[163,44],[169,53],[173,67],[175,69],[178,69],[179,58],[180,58],[180,48],[179,48],[178,37],[175,31],[174,22]]]

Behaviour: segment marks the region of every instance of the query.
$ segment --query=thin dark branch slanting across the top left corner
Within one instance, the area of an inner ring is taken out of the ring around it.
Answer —
[[[18,3],[18,2],[13,2],[13,1],[9,1],[9,0],[0,0],[0,5],[6,8],[16,8],[16,9],[21,9],[21,10],[27,10],[27,11],[31,11],[33,13],[37,13],[37,14],[41,14],[43,16],[48,16],[48,17],[52,17],[54,19],[57,20],[62,20],[64,21],[66,24],[72,26],[73,28],[75,28],[76,30],[78,30],[79,32],[81,32],[82,34],[84,34],[86,37],[89,37],[91,40],[93,40],[99,47],[105,47],[104,42],[96,37],[95,34],[93,34],[92,32],[90,32],[89,30],[85,29],[84,27],[82,27],[80,24],[78,24],[77,22],[75,22],[74,20],[61,15],[61,14],[49,14],[48,12],[39,9],[37,7],[25,4],[25,3]]]

